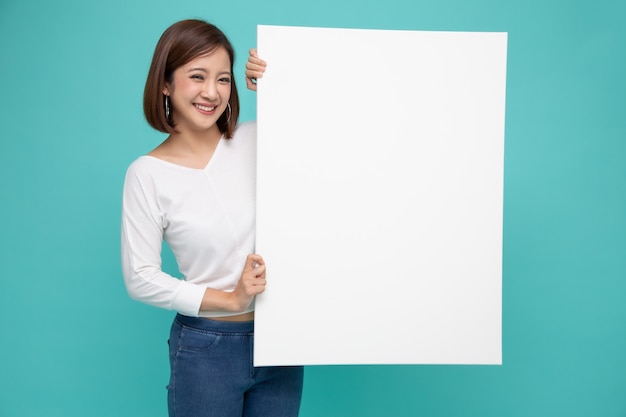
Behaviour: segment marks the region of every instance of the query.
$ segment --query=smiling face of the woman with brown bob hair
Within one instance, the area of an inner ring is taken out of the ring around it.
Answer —
[[[232,74],[230,58],[224,48],[203,55],[178,67],[163,94],[170,96],[172,120],[176,130],[216,131],[217,120],[230,98]]]

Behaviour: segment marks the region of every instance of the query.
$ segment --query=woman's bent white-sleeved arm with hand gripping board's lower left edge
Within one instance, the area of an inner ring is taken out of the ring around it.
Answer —
[[[164,219],[153,179],[131,166],[124,183],[122,209],[122,270],[131,298],[161,308],[197,316],[201,310],[239,312],[265,289],[265,265],[249,255],[235,290],[207,289],[161,270]]]

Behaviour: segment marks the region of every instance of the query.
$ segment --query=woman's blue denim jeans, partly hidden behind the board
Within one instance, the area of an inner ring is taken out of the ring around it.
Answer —
[[[296,417],[301,366],[254,367],[254,322],[176,315],[170,333],[170,417]]]

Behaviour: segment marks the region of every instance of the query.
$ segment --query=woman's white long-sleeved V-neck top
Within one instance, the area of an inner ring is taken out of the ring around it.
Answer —
[[[122,269],[129,295],[187,316],[207,287],[235,289],[255,240],[256,124],[220,139],[208,165],[193,169],[151,156],[128,168],[122,204]],[[161,269],[165,240],[182,279]],[[253,305],[247,311],[252,311]]]

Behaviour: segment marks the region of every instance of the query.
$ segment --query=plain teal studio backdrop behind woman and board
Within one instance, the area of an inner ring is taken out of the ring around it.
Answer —
[[[233,41],[243,120],[257,24],[509,33],[503,365],[309,367],[302,417],[626,416],[621,0],[0,0],[0,416],[167,414],[172,313],[126,295],[120,196],[164,138],[154,46],[189,17]]]

